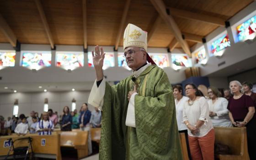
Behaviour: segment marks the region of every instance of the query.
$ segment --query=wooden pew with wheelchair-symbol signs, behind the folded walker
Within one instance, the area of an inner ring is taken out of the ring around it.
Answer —
[[[41,158],[52,158],[56,160],[61,160],[61,153],[60,153],[60,136],[58,134],[54,135],[38,135],[38,134],[27,134],[25,136],[18,136],[16,134],[11,136],[1,136],[0,137],[0,159],[4,159],[7,155],[9,148],[4,148],[4,141],[8,139],[20,139],[25,137],[32,138],[32,148],[33,148],[33,156],[34,157],[41,157]],[[42,145],[42,139],[45,139],[45,145]],[[28,146],[27,139],[16,141],[14,143],[14,147],[21,147],[21,146]],[[12,152],[11,154],[12,155]]]

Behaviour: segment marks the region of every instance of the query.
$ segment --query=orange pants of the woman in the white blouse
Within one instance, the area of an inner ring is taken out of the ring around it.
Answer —
[[[203,137],[188,136],[192,160],[214,160],[214,129]]]

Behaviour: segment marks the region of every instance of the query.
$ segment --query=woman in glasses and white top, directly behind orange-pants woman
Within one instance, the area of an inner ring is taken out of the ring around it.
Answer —
[[[232,127],[232,123],[229,120],[228,100],[220,97],[220,93],[217,88],[209,87],[208,100],[209,116],[211,117],[213,127]]]

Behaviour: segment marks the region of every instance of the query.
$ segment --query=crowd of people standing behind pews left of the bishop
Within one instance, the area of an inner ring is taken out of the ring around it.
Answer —
[[[0,134],[11,135],[17,133],[18,135],[25,135],[29,133],[38,133],[40,135],[50,135],[54,128],[60,128],[61,131],[71,131],[72,129],[86,130],[101,127],[101,111],[97,108],[92,112],[88,109],[87,103],[83,103],[80,112],[70,112],[69,107],[65,106],[63,112],[58,116],[58,112],[53,112],[49,109],[48,112],[43,112],[38,117],[37,112],[30,112],[30,116],[26,117],[20,114],[19,117],[12,116],[6,120],[0,116]]]

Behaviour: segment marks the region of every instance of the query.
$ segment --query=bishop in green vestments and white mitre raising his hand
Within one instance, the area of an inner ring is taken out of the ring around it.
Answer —
[[[103,75],[103,48],[92,52],[88,102],[103,112],[100,160],[182,160],[171,84],[147,53],[147,32],[128,24],[123,49],[133,75],[113,86]]]

